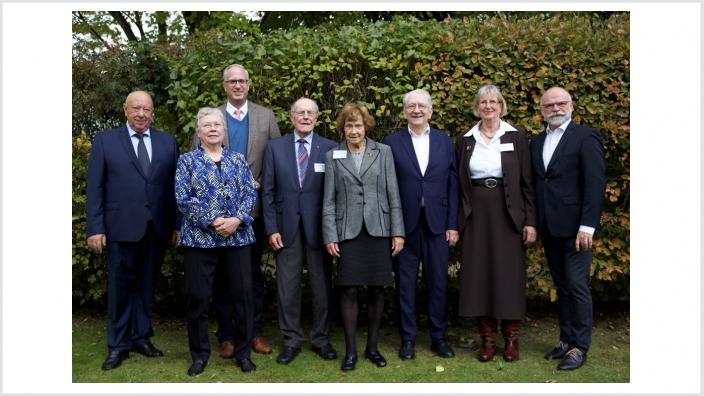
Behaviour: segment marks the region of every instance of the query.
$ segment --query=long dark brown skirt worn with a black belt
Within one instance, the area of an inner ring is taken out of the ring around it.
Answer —
[[[461,316],[518,320],[526,314],[522,232],[506,209],[503,186],[472,186],[472,213],[462,237]]]

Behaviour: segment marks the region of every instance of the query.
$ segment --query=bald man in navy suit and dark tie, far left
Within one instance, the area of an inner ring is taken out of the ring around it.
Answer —
[[[154,287],[169,239],[178,240],[174,175],[176,139],[150,128],[152,98],[127,96],[127,124],[95,135],[88,162],[88,247],[107,250],[108,357],[118,367],[129,352],[163,356],[152,345]]]

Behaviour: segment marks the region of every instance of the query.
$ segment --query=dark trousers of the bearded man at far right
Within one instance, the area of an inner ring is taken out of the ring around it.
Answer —
[[[578,252],[575,237],[558,238],[542,227],[541,240],[550,274],[557,287],[557,310],[560,315],[560,340],[584,352],[592,338],[592,294],[589,270],[592,251]]]

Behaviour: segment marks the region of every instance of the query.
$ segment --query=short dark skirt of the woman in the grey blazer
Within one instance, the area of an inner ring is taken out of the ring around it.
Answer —
[[[338,243],[339,286],[388,286],[391,274],[391,238],[373,237],[362,225],[354,239]]]

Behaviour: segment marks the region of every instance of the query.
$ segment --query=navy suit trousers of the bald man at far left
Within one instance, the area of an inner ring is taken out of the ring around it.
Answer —
[[[108,350],[129,350],[154,335],[152,312],[156,277],[166,243],[150,221],[142,240],[111,242],[108,259]]]

